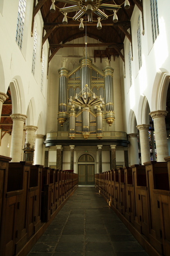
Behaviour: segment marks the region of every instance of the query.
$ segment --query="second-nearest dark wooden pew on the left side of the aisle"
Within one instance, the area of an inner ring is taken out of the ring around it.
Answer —
[[[4,255],[14,255],[28,239],[28,197],[30,163],[9,163],[4,219]],[[8,232],[6,232],[8,230]]]

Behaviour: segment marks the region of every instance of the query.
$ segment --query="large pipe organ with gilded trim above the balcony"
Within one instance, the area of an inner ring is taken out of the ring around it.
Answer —
[[[92,64],[92,59],[83,57],[73,70],[63,67],[58,72],[59,131],[69,126],[70,139],[101,139],[103,125],[114,125],[115,120],[113,69],[107,66],[100,70]]]

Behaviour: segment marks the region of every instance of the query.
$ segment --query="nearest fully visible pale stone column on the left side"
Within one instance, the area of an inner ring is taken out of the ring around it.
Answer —
[[[20,162],[22,153],[22,142],[23,142],[23,129],[24,122],[27,116],[22,114],[12,114],[10,115],[13,120],[13,131],[11,138],[11,151],[10,157],[11,162]]]

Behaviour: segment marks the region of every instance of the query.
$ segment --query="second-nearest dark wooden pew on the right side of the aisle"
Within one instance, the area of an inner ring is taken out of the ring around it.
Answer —
[[[167,238],[170,241],[170,189],[167,163],[149,161],[144,165],[148,187],[149,241],[160,253],[167,256],[166,249],[165,252],[163,251],[163,233],[168,234]]]

